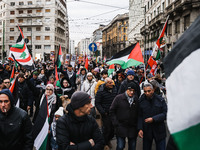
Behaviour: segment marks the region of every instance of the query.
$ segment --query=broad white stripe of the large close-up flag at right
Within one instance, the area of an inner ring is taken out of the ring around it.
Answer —
[[[166,81],[170,132],[200,123],[200,49],[180,63]]]

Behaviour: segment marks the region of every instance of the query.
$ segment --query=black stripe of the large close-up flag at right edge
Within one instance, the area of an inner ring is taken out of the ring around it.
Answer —
[[[172,51],[164,59],[166,78],[174,71],[174,69],[193,51],[200,48],[200,16],[185,31],[174,45]]]

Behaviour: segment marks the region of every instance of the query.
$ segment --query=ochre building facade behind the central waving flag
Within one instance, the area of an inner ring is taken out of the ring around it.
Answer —
[[[124,49],[128,42],[129,14],[117,15],[103,28],[102,55],[107,58]]]

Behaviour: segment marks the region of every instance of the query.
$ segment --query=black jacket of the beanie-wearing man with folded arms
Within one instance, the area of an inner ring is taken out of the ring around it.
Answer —
[[[88,115],[77,117],[71,107],[67,106],[68,114],[58,119],[56,125],[56,141],[59,150],[102,150],[103,136],[93,117]],[[89,139],[93,139],[92,147]],[[75,145],[70,145],[73,142]]]

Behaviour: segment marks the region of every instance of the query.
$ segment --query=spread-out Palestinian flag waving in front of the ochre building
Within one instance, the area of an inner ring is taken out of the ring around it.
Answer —
[[[139,43],[133,44],[115,54],[107,64],[119,64],[123,69],[144,63]]]

